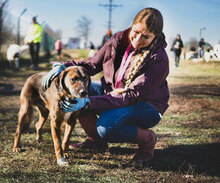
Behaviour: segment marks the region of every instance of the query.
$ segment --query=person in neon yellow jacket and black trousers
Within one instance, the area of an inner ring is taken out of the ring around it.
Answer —
[[[43,28],[37,23],[37,18],[32,18],[32,25],[28,28],[24,42],[29,45],[32,65],[31,68],[38,70],[39,64],[39,51],[42,39]]]

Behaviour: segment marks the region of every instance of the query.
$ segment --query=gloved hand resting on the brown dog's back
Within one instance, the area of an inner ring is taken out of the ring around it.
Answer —
[[[60,75],[60,73],[66,69],[66,66],[63,64],[54,64],[53,69],[44,76],[42,80],[42,88],[46,91],[50,87],[51,82]]]

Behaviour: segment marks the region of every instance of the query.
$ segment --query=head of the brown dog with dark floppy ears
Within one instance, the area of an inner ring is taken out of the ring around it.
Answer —
[[[91,79],[86,69],[71,66],[65,69],[56,81],[58,91],[68,98],[88,97]]]

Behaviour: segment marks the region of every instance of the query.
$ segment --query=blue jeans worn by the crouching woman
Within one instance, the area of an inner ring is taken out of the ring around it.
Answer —
[[[92,83],[90,95],[103,95],[100,83]],[[108,110],[96,123],[98,135],[107,142],[132,142],[138,128],[148,129],[159,123],[160,113],[146,102]]]

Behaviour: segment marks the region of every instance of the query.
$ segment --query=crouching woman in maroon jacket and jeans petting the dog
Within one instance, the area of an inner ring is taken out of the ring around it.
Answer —
[[[101,81],[91,83],[87,98],[61,100],[64,112],[82,109],[78,119],[88,135],[70,148],[105,149],[107,143],[134,143],[139,149],[133,161],[153,158],[156,135],[150,128],[160,122],[169,100],[166,46],[160,11],[145,8],[131,27],[114,34],[94,57],[53,67],[43,78],[44,90],[69,66],[82,66],[90,76],[103,71]]]

